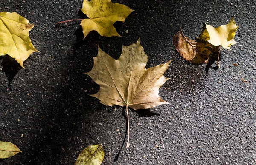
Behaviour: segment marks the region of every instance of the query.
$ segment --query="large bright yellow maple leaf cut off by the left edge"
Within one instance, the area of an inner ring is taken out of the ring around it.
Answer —
[[[29,31],[34,27],[29,21],[17,13],[0,13],[0,56],[8,54],[20,66],[35,49],[29,38]],[[24,67],[23,67],[24,68]]]

